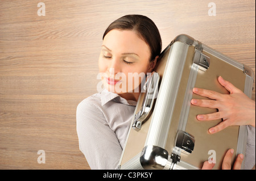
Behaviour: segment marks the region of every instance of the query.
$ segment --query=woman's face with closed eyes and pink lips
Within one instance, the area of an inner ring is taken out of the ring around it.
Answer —
[[[147,73],[154,69],[150,49],[135,31],[112,30],[104,37],[98,66],[101,80],[110,92],[133,94]]]

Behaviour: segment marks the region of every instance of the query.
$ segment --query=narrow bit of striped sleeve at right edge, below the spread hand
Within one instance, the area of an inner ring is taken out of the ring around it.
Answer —
[[[255,165],[255,127],[247,125],[247,144],[245,150],[245,170],[252,169]]]

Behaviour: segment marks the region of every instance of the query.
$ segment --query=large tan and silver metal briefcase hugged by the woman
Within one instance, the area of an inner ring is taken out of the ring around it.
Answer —
[[[160,54],[155,71],[139,96],[119,169],[200,169],[210,157],[215,157],[214,169],[220,169],[228,149],[245,154],[246,126],[209,134],[221,120],[202,123],[196,115],[217,110],[193,106],[191,99],[200,99],[193,87],[229,94],[218,83],[219,75],[251,98],[249,67],[179,35]]]

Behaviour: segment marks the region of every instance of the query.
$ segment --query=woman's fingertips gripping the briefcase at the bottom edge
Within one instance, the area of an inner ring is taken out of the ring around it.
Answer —
[[[222,162],[222,170],[230,170],[231,167],[231,162],[232,162],[232,157],[233,157],[234,150],[229,149]],[[243,154],[238,154],[237,159],[234,162],[233,170],[240,170],[241,165],[243,162]],[[211,170],[214,167],[215,163],[210,163],[209,161],[205,161],[204,165],[202,167],[202,170]]]

